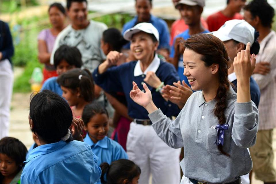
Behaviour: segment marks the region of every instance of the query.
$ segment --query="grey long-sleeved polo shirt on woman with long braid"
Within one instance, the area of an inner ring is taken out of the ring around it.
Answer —
[[[202,91],[189,97],[185,106],[172,121],[160,109],[149,114],[157,135],[170,147],[184,147],[180,162],[183,174],[198,181],[225,183],[245,175],[252,169],[252,160],[246,148],[256,142],[259,113],[250,101],[237,103],[237,93],[230,87],[227,92],[226,124],[221,154],[214,144],[218,118],[214,115],[215,100],[206,102]]]

